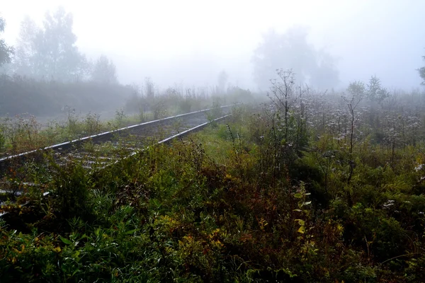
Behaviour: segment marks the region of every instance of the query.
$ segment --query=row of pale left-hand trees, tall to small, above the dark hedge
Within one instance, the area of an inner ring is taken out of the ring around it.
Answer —
[[[0,39],[0,67],[6,74],[45,81],[118,83],[115,64],[105,55],[91,60],[76,45],[72,13],[59,7],[47,11],[39,26],[26,16],[16,46]],[[0,18],[0,33],[6,21]]]

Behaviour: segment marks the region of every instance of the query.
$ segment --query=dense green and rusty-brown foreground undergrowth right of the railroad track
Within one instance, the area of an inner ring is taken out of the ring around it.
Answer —
[[[350,155],[298,111],[244,106],[98,173],[58,166],[50,197],[3,207],[1,282],[420,282],[423,146]]]

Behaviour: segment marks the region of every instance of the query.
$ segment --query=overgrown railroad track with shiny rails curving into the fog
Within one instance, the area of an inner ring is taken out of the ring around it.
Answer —
[[[6,187],[11,182],[18,185],[14,194],[21,194],[23,189],[19,187],[42,185],[40,180],[34,180],[32,172],[52,171],[52,166],[49,166],[52,159],[60,166],[74,161],[81,162],[88,169],[104,168],[136,154],[146,146],[168,143],[177,137],[202,129],[212,121],[223,120],[231,115],[229,113],[233,106],[226,105],[166,117],[1,158],[0,192],[10,192]],[[46,153],[49,154],[50,161],[45,158]]]

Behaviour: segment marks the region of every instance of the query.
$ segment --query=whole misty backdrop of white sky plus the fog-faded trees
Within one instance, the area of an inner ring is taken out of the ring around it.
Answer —
[[[373,75],[390,90],[410,91],[422,81],[423,11],[420,0],[4,1],[0,38],[14,54],[1,72],[108,90],[149,78],[163,90],[261,93],[283,68],[322,91]],[[55,52],[66,54],[60,64]]]

